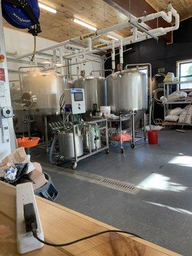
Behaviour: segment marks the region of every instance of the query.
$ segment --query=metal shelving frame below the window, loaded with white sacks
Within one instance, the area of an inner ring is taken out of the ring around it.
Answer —
[[[172,85],[177,85],[177,90],[179,90],[179,84],[188,84],[188,83],[192,83],[192,81],[179,81],[179,82],[173,82],[173,83],[164,83],[163,84],[163,88],[164,88],[164,97],[168,98],[168,95],[170,95],[172,93],[172,88],[170,88],[170,86],[172,87]],[[170,90],[171,89],[171,90]],[[180,90],[181,92],[189,92],[188,89],[186,90]],[[192,91],[192,88],[191,88]],[[170,93],[171,92],[171,93]],[[191,100],[180,100],[180,101],[171,101],[171,102],[164,102],[164,118],[166,115],[168,115],[168,110],[169,110],[169,105],[173,105],[173,104],[190,104]],[[182,125],[182,124],[177,124],[177,125]],[[188,124],[186,124],[188,125]],[[192,126],[192,124],[189,124],[189,126]]]

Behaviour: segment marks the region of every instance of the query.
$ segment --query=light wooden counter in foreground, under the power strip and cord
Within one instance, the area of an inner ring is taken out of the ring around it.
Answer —
[[[114,229],[100,221],[36,196],[45,240],[65,243],[102,230]],[[0,181],[0,255],[16,256],[15,187]],[[108,233],[66,247],[44,246],[28,256],[178,256],[156,244],[127,234]]]

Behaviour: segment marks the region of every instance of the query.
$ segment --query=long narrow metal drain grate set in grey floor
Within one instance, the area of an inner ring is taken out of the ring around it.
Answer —
[[[120,180],[108,179],[106,177],[96,175],[93,173],[74,171],[67,168],[52,166],[51,164],[42,164],[43,169],[49,172],[60,173],[61,175],[66,175],[68,177],[72,177],[79,180],[84,180],[86,182],[92,182],[95,184],[99,184],[101,186],[105,186],[107,188],[112,188],[120,191],[124,191],[125,193],[131,193],[136,195],[140,191],[140,186],[136,186],[131,183],[122,182]]]

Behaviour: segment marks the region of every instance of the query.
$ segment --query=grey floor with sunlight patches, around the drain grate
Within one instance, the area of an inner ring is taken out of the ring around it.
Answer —
[[[51,172],[56,202],[116,228],[127,230],[184,256],[192,255],[192,131],[159,132],[159,144],[113,146],[79,162],[77,170],[140,184],[131,195]],[[45,162],[38,150],[32,159]],[[65,166],[71,166],[70,163]]]

